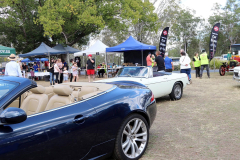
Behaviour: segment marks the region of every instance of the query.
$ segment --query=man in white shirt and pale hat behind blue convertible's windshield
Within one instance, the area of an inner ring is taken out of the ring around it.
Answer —
[[[21,69],[18,63],[15,62],[16,57],[14,54],[11,54],[8,59],[10,62],[6,64],[5,75],[6,76],[15,76],[22,77]]]

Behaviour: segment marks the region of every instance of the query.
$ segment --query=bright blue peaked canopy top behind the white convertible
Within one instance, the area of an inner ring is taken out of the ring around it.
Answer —
[[[124,52],[124,51],[136,51],[136,50],[156,50],[156,46],[143,44],[132,36],[130,36],[125,42],[110,48],[106,48],[107,52]]]

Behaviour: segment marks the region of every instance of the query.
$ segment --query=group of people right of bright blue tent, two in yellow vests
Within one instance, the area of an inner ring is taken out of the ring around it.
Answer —
[[[156,55],[156,57],[155,57]],[[165,71],[165,72],[172,72],[174,70],[173,61],[171,58],[168,57],[168,52],[165,54],[160,53],[160,51],[156,51],[156,53],[149,55],[146,58],[147,66],[153,67],[154,71]],[[191,59],[189,58],[188,54],[181,49],[180,50],[181,58],[179,60],[180,63],[180,73],[186,73],[188,75],[188,80],[190,84],[192,83],[192,76],[191,76]],[[198,53],[195,53],[193,57],[193,67],[196,70],[196,78],[202,78],[203,70],[206,68],[208,78],[210,78],[209,73],[209,56],[206,51],[203,49],[201,55],[199,56]]]

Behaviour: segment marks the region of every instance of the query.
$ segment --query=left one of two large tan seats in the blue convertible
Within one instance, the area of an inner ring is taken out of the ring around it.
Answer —
[[[32,94],[26,97],[21,108],[27,113],[27,115],[44,111],[48,103],[48,96],[44,94],[45,88],[38,85],[38,87],[30,89],[30,91]]]

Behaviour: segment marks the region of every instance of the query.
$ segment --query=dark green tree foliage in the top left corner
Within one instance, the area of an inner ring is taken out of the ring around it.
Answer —
[[[35,25],[37,7],[43,0],[4,0],[0,2],[0,44],[11,46],[18,53],[27,53],[41,42],[51,44],[43,36],[43,27]]]

